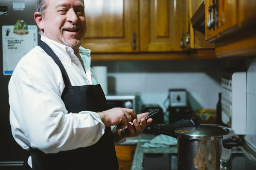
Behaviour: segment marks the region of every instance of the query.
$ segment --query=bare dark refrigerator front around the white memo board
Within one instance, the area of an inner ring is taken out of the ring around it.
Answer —
[[[24,9],[18,9],[15,4],[24,4]],[[6,7],[8,13],[0,15],[0,70],[3,71],[3,36],[2,26],[14,26],[17,20],[24,20],[28,25],[36,25],[34,19],[35,0],[0,0],[0,6]],[[14,9],[15,8],[15,9]],[[1,11],[1,10],[0,10]],[[9,30],[6,32],[9,35]],[[22,35],[21,35],[22,36]],[[38,36],[38,43],[40,35]],[[20,170],[22,169],[24,158],[27,156],[26,150],[23,150],[12,137],[9,121],[9,95],[8,83],[11,76],[0,74],[0,170]]]

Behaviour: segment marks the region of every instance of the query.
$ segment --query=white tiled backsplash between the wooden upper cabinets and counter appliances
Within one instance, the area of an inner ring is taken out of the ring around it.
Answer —
[[[139,92],[143,104],[158,104],[164,111],[170,88],[185,88],[193,109],[215,109],[221,91],[221,73],[228,59],[175,61],[106,61],[92,66],[108,67],[108,92]]]

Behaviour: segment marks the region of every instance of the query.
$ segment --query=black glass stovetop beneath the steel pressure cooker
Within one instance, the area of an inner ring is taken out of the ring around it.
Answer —
[[[144,153],[143,170],[178,170],[177,153]],[[229,170],[256,170],[243,153],[232,153]]]

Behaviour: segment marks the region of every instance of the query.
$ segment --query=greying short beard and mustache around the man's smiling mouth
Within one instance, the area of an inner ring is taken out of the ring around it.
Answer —
[[[83,39],[82,34],[81,34],[80,37],[77,37],[77,35],[74,34],[72,37],[70,37],[70,40],[66,40],[65,37],[64,37],[64,35],[63,35],[63,32],[64,32],[64,30],[66,30],[66,29],[81,29],[81,28],[78,27],[78,26],[75,26],[75,25],[73,25],[73,26],[63,26],[63,27],[61,28],[61,38],[62,38],[62,42],[63,42],[66,46],[68,46],[68,47],[71,47],[71,48],[78,48],[78,47],[81,45],[81,42],[82,42],[82,39]],[[82,29],[81,29],[81,30],[82,30]],[[80,30],[79,30],[79,31],[80,31]]]

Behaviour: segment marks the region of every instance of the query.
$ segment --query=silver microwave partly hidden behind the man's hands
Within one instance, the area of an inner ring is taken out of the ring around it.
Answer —
[[[108,109],[111,108],[130,108],[139,112],[137,95],[106,95]]]

